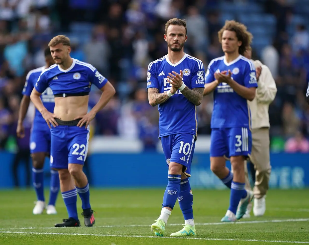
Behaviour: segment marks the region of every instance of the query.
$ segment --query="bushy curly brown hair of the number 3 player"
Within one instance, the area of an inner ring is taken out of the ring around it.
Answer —
[[[241,41],[241,45],[239,47],[239,54],[243,55],[246,52],[246,48],[250,46],[252,42],[252,34],[247,31],[247,27],[235,20],[226,20],[225,25],[222,27],[220,31],[218,31],[219,42],[222,42],[222,35],[224,31],[231,31],[236,33],[236,37],[238,41]]]

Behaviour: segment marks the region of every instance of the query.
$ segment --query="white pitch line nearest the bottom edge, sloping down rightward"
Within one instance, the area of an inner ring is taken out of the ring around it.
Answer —
[[[134,237],[134,238],[156,238],[155,236],[134,236],[134,235],[110,235],[110,234],[87,234],[87,233],[60,233],[60,232],[24,232],[24,231],[0,231],[0,233],[13,234],[37,234],[37,235],[74,235],[74,236],[105,236],[105,237]],[[191,239],[208,241],[238,241],[238,242],[260,242],[260,243],[303,243],[299,241],[273,241],[273,240],[255,240],[255,239],[218,239],[218,238],[199,238],[199,237],[162,237],[163,239]],[[160,239],[160,238],[157,238]]]

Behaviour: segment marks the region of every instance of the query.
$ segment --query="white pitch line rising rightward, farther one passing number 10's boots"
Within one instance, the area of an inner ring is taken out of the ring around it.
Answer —
[[[195,223],[197,226],[212,226],[212,225],[231,225],[231,224],[259,224],[259,223],[280,223],[280,222],[302,222],[309,221],[306,219],[278,219],[278,220],[253,220],[253,221],[237,221],[237,222],[218,222],[218,223]],[[182,224],[168,224],[168,226],[181,226]],[[93,228],[112,228],[112,227],[150,227],[150,225],[110,225],[110,226],[94,226]],[[33,230],[33,229],[64,229],[66,227],[19,227],[19,228],[0,228],[0,230]],[[77,229],[84,228],[75,227]]]

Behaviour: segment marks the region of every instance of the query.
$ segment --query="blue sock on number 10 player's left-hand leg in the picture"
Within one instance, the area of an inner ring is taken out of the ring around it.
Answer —
[[[180,192],[180,180],[181,175],[179,174],[167,175],[168,184],[164,192],[162,207],[174,208]]]

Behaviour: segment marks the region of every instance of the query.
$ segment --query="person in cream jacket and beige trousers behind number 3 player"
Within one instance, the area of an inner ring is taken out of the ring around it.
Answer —
[[[251,47],[248,47],[244,56],[251,59]],[[260,61],[253,61],[256,67],[256,78],[258,88],[253,101],[248,101],[252,120],[252,152],[251,158],[256,170],[254,192],[253,214],[263,216],[266,210],[265,197],[269,189],[269,177],[271,172],[269,157],[269,105],[275,99],[277,87],[275,80],[266,65]],[[251,189],[246,170],[246,188]],[[248,206],[247,213],[243,218],[250,217],[251,207]]]

